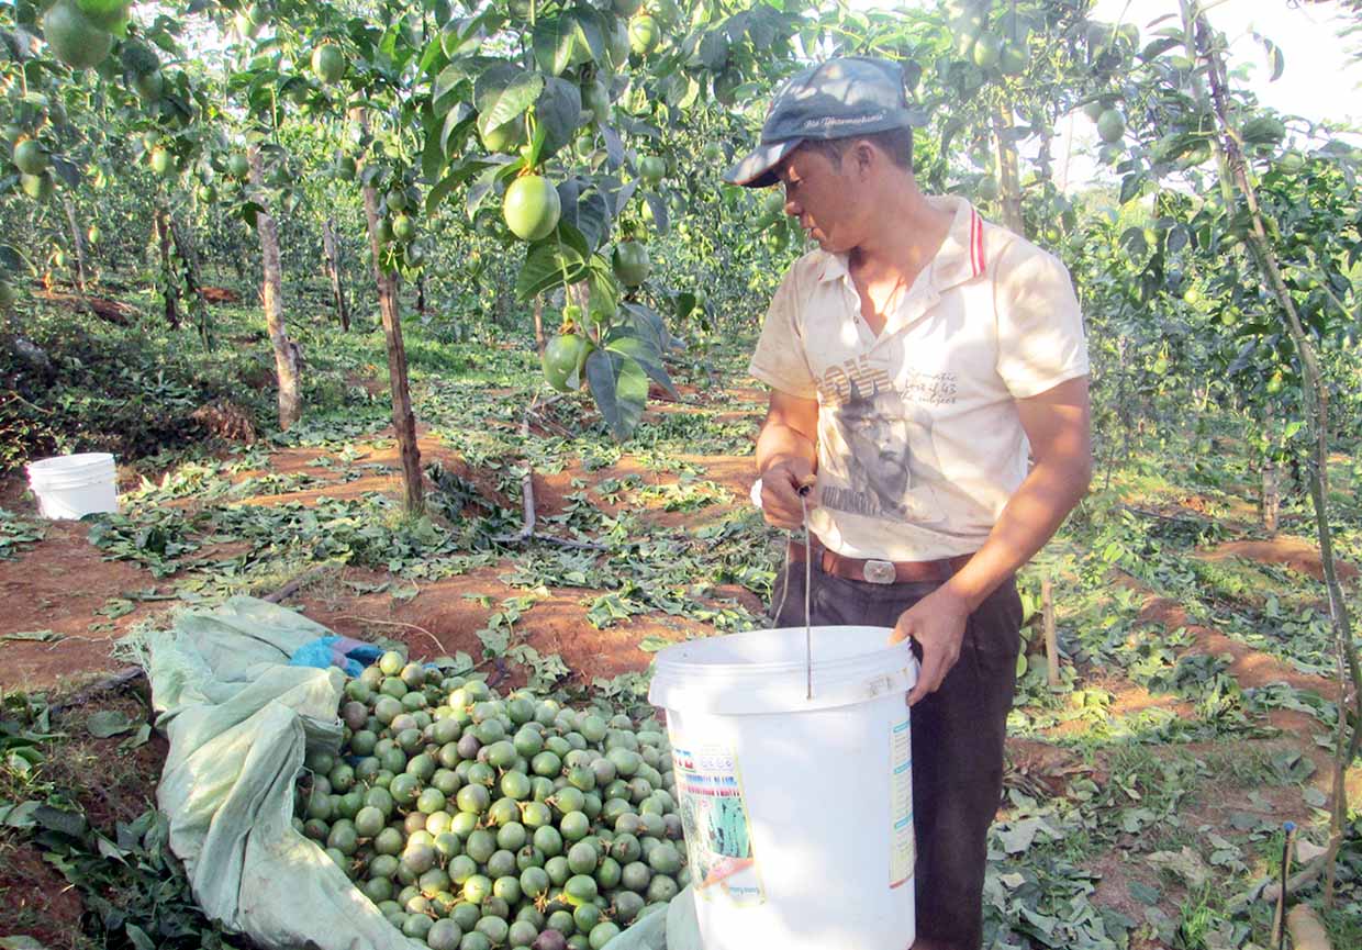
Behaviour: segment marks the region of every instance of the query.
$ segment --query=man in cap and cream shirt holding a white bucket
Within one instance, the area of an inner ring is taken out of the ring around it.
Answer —
[[[914,946],[974,950],[1020,641],[1012,578],[1087,490],[1088,361],[1064,267],[918,189],[921,124],[896,65],[831,60],[780,90],[726,180],[782,184],[819,244],[752,358],[771,387],[761,504],[789,529],[808,505],[813,623],[889,626],[921,657]],[[787,572],[779,623],[802,626],[802,584]]]

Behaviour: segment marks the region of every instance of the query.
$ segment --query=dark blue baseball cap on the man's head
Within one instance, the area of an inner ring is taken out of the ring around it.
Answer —
[[[868,56],[843,56],[786,80],[771,101],[761,142],[723,173],[731,185],[765,188],[772,169],[806,139],[846,139],[926,125],[926,113],[910,105],[903,67]]]

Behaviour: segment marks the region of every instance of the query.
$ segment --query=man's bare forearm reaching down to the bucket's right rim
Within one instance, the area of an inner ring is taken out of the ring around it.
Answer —
[[[1088,457],[1036,463],[1008,501],[983,547],[945,589],[972,612],[983,599],[1045,547],[1064,519],[1083,499],[1091,478]]]

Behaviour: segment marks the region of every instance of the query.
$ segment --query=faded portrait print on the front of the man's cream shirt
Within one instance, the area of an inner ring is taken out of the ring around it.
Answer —
[[[831,376],[831,374],[829,374]],[[819,504],[885,521],[937,524],[944,521],[932,482],[941,467],[932,442],[934,419],[910,389],[888,385],[862,388],[843,374],[846,397],[827,403],[832,426]],[[952,384],[953,400],[953,384]]]

